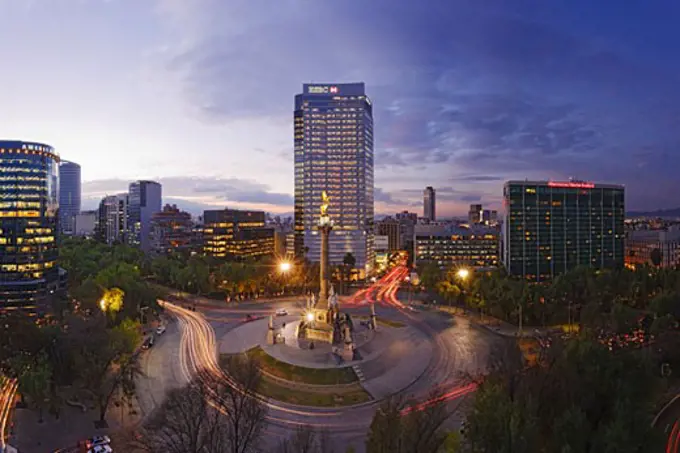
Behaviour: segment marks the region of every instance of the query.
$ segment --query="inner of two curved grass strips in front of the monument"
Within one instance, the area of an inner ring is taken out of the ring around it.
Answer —
[[[254,347],[246,352],[254,359],[260,369],[290,382],[311,385],[338,385],[358,382],[356,373],[351,367],[344,368],[306,368],[282,362],[267,354],[261,347]]]

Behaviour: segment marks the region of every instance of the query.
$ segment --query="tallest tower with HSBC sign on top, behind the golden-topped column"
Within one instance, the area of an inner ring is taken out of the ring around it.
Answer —
[[[363,83],[304,84],[295,96],[296,256],[318,261],[321,194],[330,198],[331,265],[346,253],[361,278],[373,269],[373,107]]]

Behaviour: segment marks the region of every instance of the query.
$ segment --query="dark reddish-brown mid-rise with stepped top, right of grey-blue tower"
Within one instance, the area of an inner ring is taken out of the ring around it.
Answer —
[[[189,252],[193,226],[191,214],[166,204],[162,211],[151,215],[149,250],[159,255]]]

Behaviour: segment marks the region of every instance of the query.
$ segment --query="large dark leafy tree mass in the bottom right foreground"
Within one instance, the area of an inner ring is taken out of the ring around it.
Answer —
[[[540,363],[480,383],[465,438],[479,453],[651,451],[655,368],[586,337],[555,341]]]

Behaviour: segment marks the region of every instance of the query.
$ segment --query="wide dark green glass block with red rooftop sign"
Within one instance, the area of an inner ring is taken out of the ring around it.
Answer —
[[[577,266],[623,266],[623,186],[509,181],[503,197],[503,259],[510,274],[544,281]]]

